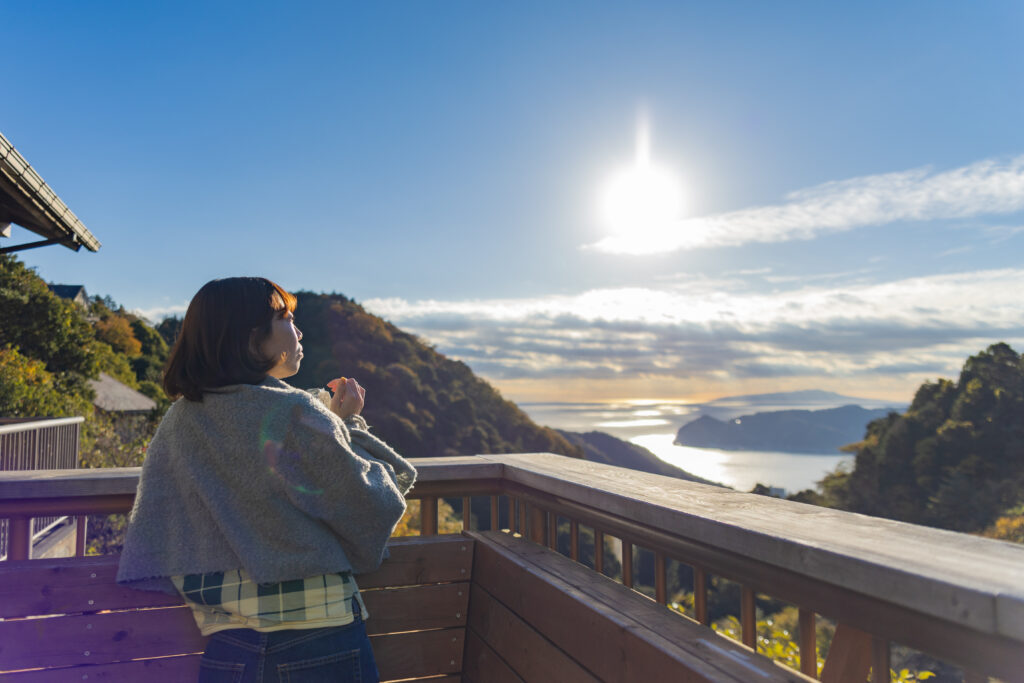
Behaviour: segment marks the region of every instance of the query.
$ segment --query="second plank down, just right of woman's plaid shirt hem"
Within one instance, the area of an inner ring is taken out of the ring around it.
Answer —
[[[371,635],[466,625],[469,582],[362,591]]]

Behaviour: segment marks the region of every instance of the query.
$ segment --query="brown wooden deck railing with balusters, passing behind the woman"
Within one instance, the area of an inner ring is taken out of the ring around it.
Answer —
[[[420,476],[411,498],[421,501],[425,536],[437,532],[438,501],[461,499],[465,528],[466,512],[482,508],[487,527],[504,517],[511,531],[554,548],[559,522],[567,522],[573,559],[581,527],[589,527],[596,571],[606,559],[603,538],[615,537],[627,586],[634,549],[653,553],[651,597],[663,604],[669,562],[693,567],[694,615],[705,625],[710,578],[740,584],[750,647],[758,646],[757,595],[797,605],[801,669],[821,680],[860,683],[868,671],[872,681],[889,680],[894,642],[964,668],[972,683],[1024,680],[1024,546],[551,454],[413,462]],[[135,468],[0,473],[0,517],[25,533],[33,515],[124,512],[137,477]],[[838,623],[821,672],[815,614]]]

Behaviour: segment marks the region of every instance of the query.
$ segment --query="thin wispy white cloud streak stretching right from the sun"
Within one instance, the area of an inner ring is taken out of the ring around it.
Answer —
[[[928,168],[826,182],[782,204],[609,236],[590,248],[613,254],[809,240],[865,225],[967,218],[1024,209],[1024,157],[985,160],[941,173]]]

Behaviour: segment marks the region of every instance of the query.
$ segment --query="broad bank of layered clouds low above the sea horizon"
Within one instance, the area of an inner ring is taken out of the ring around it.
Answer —
[[[1024,269],[778,293],[691,285],[365,305],[496,380],[935,376],[1024,339]]]

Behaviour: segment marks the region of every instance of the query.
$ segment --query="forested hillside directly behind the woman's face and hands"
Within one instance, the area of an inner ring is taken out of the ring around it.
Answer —
[[[464,362],[339,294],[297,293],[296,319],[305,357],[288,380],[301,388],[354,377],[367,388],[364,415],[375,431],[410,457],[583,451],[540,427]]]

